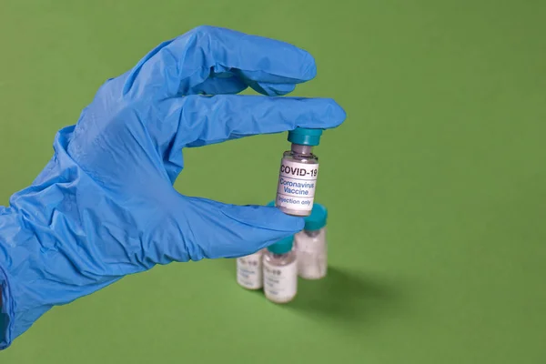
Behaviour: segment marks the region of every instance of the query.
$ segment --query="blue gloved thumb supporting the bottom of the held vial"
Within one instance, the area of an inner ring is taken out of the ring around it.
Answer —
[[[164,221],[147,259],[159,264],[202,258],[238,258],[267,248],[304,227],[277,207],[237,206],[180,196],[176,217]],[[168,238],[167,238],[168,237]],[[173,241],[176,239],[176,241]]]

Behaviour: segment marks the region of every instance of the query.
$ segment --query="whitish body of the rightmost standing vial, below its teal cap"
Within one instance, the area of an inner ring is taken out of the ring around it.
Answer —
[[[308,237],[301,231],[294,237],[298,254],[298,275],[305,279],[324,278],[327,273],[327,245],[324,232]]]

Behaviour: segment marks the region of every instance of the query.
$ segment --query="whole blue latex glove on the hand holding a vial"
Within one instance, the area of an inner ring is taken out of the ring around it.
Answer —
[[[293,45],[201,26],[101,86],[32,186],[0,207],[0,348],[53,306],[127,274],[244,256],[300,230],[302,218],[275,207],[186,197],[173,183],[185,147],[339,126],[331,99],[267,97],[315,75]],[[267,96],[230,95],[248,86]]]

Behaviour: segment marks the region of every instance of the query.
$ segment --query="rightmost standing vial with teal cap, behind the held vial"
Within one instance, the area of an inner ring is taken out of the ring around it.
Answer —
[[[311,215],[305,217],[305,227],[294,236],[298,255],[298,276],[304,279],[326,277],[328,269],[328,244],[326,220],[328,210],[314,204]]]

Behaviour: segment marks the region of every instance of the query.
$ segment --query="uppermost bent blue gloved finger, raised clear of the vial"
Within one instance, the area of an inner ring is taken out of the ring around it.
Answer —
[[[317,75],[315,60],[295,45],[214,26],[199,26],[157,45],[129,72],[124,94],[153,90],[157,99],[202,94],[215,74],[230,73],[245,83],[296,85]],[[238,82],[238,80],[236,80]],[[236,87],[220,83],[218,94]],[[275,87],[273,87],[275,89]],[[257,89],[268,96],[270,89]],[[136,96],[135,95],[135,96]]]

